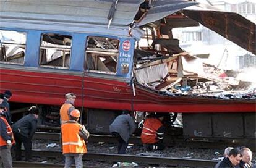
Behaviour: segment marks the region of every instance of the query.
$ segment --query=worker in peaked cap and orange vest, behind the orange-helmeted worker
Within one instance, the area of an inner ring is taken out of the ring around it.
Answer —
[[[64,122],[69,121],[69,115],[72,110],[75,109],[75,94],[74,93],[67,93],[65,94],[66,101],[62,104],[61,109],[59,110],[59,115],[61,116],[61,124]]]

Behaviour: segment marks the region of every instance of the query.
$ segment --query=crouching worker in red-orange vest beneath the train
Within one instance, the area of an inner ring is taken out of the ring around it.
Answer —
[[[157,113],[156,115],[148,115],[145,119],[140,138],[147,151],[164,149],[163,138],[165,127],[162,124],[164,115]]]

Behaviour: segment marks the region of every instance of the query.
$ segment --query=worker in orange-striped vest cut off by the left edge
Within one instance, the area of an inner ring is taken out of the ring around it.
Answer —
[[[12,128],[4,115],[4,106],[0,104],[0,167],[12,168],[11,147],[14,144]]]

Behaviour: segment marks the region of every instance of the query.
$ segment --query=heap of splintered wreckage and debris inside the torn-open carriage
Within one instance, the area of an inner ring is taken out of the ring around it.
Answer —
[[[160,94],[256,99],[256,83],[239,80],[240,72],[218,69],[186,52],[172,57],[150,54],[137,57],[135,77],[140,85]]]

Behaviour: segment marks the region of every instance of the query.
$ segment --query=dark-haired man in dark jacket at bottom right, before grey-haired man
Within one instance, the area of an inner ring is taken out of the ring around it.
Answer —
[[[237,148],[231,149],[229,151],[228,157],[225,157],[219,164],[217,168],[234,168],[242,159],[240,150]]]

